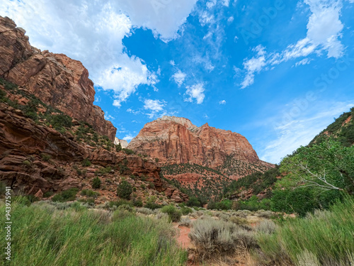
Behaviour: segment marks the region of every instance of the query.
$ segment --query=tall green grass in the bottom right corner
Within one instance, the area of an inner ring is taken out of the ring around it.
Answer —
[[[258,245],[278,265],[282,261],[282,265],[284,261],[305,265],[306,260],[308,265],[353,265],[354,200],[337,202],[330,211],[290,219],[273,235],[259,235]]]

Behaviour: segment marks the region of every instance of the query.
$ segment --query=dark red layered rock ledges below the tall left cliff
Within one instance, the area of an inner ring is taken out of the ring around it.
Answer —
[[[50,160],[45,160],[43,154]],[[79,176],[73,168],[84,158],[95,165],[95,168],[87,169],[86,177]],[[99,167],[116,166],[119,169],[120,165],[129,169],[127,174],[130,176],[144,176],[147,182],[154,184],[156,191],[164,192],[173,201],[188,199],[187,195],[161,181],[160,168],[153,160],[77,143],[70,134],[63,135],[53,128],[40,126],[23,116],[22,111],[0,103],[0,181],[15,192],[42,195],[71,187],[83,189]],[[110,200],[116,197],[113,181],[121,175],[120,172],[108,174]],[[135,183],[129,177],[128,180]]]

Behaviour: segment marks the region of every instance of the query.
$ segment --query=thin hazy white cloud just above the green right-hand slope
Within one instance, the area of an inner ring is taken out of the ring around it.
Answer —
[[[282,157],[291,154],[301,145],[309,144],[317,134],[333,122],[333,116],[338,117],[341,113],[349,111],[353,105],[353,102],[313,103],[292,120],[278,124],[278,121],[282,121],[284,113],[289,112],[291,105],[287,104],[287,108],[284,108],[279,116],[273,118],[276,121],[273,134],[275,138],[261,150],[261,160],[280,162]]]

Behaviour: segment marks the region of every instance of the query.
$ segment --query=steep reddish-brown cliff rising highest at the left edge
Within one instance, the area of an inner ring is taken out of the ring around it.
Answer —
[[[95,90],[81,62],[30,46],[22,28],[0,16],[0,77],[28,89],[45,104],[90,123],[114,140],[117,129],[94,106]]]

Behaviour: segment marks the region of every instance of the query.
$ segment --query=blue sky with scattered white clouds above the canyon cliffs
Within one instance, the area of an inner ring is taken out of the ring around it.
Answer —
[[[83,62],[118,138],[181,116],[278,163],[354,106],[354,0],[264,2],[2,0],[0,15]]]

